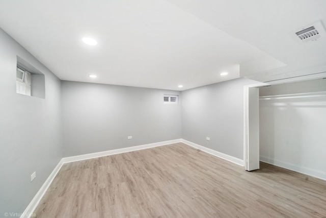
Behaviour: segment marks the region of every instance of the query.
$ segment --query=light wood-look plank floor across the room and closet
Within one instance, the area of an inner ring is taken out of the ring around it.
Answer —
[[[183,143],[64,164],[37,217],[326,217],[326,181]]]

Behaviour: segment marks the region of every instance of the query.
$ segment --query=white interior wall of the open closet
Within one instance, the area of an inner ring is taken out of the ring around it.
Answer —
[[[260,160],[326,179],[326,79],[260,88]]]

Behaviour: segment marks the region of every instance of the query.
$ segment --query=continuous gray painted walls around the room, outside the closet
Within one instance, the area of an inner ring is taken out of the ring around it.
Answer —
[[[182,94],[60,81],[1,29],[0,47],[0,217],[23,212],[62,157],[184,138],[243,158],[243,85],[255,81]],[[16,93],[17,56],[44,74],[45,99]],[[163,103],[164,94],[182,96],[173,105]]]

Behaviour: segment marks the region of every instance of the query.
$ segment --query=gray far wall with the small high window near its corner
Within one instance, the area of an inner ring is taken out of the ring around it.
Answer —
[[[64,156],[181,138],[180,102],[164,94],[180,92],[62,81]]]

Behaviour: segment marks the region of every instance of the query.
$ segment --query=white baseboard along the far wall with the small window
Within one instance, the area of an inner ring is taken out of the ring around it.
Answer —
[[[103,151],[103,152],[96,152],[96,153],[83,154],[83,155],[77,155],[77,156],[71,156],[71,157],[64,157],[64,158],[62,158],[62,160],[63,160],[63,163],[70,163],[70,162],[79,161],[79,160],[87,160],[87,159],[92,159],[92,158],[97,158],[97,157],[108,156],[108,155],[121,154],[121,153],[125,153],[125,152],[149,149],[149,148],[154,148],[154,147],[158,147],[158,146],[165,146],[167,144],[178,143],[180,141],[181,141],[181,139],[161,141],[161,142],[155,142],[155,143],[150,143],[150,144],[143,144],[141,146],[127,147],[127,148],[123,148],[123,149],[115,149],[115,150],[108,150],[108,151]]]

